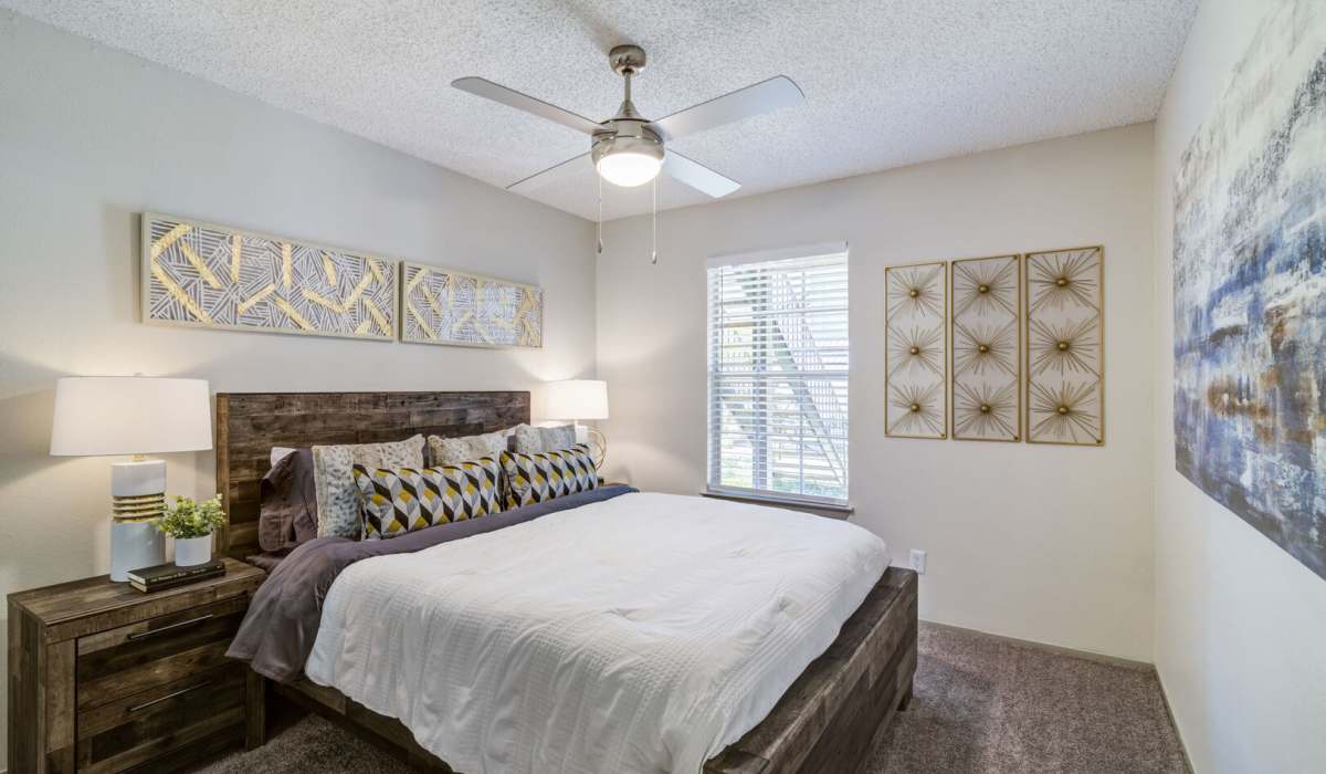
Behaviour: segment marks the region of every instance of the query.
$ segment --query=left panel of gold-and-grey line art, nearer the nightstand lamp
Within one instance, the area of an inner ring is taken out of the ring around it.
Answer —
[[[395,262],[143,212],[145,323],[391,341]]]

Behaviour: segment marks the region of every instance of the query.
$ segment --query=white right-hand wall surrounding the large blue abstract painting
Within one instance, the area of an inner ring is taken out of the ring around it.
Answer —
[[[1326,580],[1174,466],[1174,174],[1272,5],[1207,0],[1156,121],[1155,662],[1200,773],[1326,771]]]

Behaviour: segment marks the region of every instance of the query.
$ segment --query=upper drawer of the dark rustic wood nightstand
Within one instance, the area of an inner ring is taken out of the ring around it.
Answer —
[[[248,595],[78,639],[80,712],[225,665]],[[80,733],[81,735],[81,733]]]

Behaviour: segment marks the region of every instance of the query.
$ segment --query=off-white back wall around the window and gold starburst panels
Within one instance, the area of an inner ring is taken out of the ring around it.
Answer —
[[[930,551],[922,616],[1150,661],[1151,145],[1139,125],[670,211],[658,266],[647,218],[607,224],[607,474],[704,486],[705,256],[846,240],[853,519],[895,562]],[[1105,447],[883,437],[886,264],[1083,244],[1105,244]]]

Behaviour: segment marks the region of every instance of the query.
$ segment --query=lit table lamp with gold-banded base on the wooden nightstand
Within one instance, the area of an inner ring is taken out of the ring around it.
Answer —
[[[166,507],[166,461],[143,454],[212,447],[207,381],[141,376],[73,376],[56,381],[50,454],[133,461],[110,466],[110,579],[166,560],[152,519]]]

